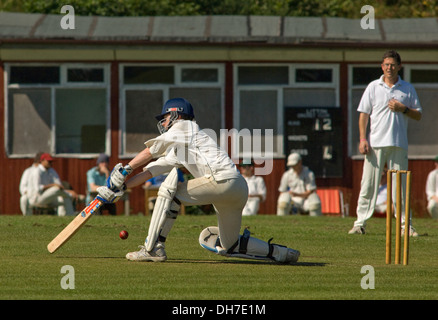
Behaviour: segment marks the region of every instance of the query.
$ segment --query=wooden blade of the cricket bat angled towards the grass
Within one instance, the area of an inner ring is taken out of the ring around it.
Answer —
[[[64,245],[79,229],[90,219],[101,206],[103,202],[97,197],[94,198],[84,210],[79,213],[65,228],[62,230],[48,245],[47,250],[54,253]]]

